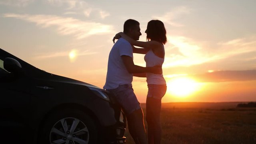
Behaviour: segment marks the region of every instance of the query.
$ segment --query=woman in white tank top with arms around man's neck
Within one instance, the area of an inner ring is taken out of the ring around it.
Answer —
[[[133,46],[133,52],[145,54],[144,60],[146,67],[162,66],[164,62],[164,44],[167,42],[166,29],[160,20],[151,20],[148,22],[147,42],[133,40],[123,32],[116,34],[113,40],[120,37],[126,39]],[[135,48],[139,46],[142,48]],[[148,83],[148,95],[146,99],[146,121],[148,123],[148,143],[161,143],[161,99],[166,93],[166,81],[162,74],[134,74],[134,76],[146,77]]]

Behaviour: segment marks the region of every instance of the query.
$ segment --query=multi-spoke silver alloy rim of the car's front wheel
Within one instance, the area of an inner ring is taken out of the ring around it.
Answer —
[[[89,131],[77,118],[62,118],[50,131],[51,144],[88,144]]]

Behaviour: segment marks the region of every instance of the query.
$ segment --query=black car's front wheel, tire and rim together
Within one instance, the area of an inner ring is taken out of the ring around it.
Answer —
[[[94,120],[80,110],[60,110],[48,116],[40,144],[97,144],[98,128]]]

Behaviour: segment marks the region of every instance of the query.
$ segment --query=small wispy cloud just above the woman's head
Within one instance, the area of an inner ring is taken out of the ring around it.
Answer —
[[[159,19],[165,24],[170,24],[171,26],[184,26],[183,24],[179,24],[178,22],[174,22],[175,19],[179,18],[184,14],[189,14],[191,12],[190,8],[186,6],[179,6],[177,8],[172,9],[170,12],[166,12],[163,16],[152,16],[153,18]]]

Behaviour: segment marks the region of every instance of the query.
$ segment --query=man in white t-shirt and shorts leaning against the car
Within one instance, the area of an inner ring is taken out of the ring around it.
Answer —
[[[140,23],[132,19],[126,20],[124,33],[134,40],[139,40]],[[147,138],[143,112],[132,89],[132,77],[133,74],[145,72],[160,74],[162,68],[135,65],[132,46],[125,39],[119,38],[109,54],[106,83],[103,88],[112,92],[122,106],[127,117],[129,132],[136,144],[147,144]]]

